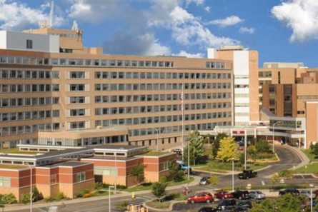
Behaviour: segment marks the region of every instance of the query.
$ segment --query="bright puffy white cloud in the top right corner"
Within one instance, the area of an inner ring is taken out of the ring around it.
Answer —
[[[318,1],[290,0],[272,8],[274,17],[292,29],[290,41],[318,39]]]

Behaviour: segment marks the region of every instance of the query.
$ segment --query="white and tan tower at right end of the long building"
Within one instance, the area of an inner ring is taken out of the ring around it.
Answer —
[[[259,121],[258,64],[257,51],[244,49],[243,46],[222,46],[208,49],[209,59],[233,61],[233,123],[234,126],[247,126]]]

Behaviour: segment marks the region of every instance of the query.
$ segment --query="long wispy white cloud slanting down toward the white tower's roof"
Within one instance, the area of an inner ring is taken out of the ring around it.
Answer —
[[[184,46],[197,45],[201,49],[223,45],[239,44],[239,41],[227,37],[218,37],[204,27],[200,19],[189,14],[178,1],[153,0],[148,12],[149,26],[162,27],[172,31],[172,38]],[[166,4],[167,3],[167,4]]]

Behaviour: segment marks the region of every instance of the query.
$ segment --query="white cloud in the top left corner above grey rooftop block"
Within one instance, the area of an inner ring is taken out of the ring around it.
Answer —
[[[0,1],[0,29],[21,31],[29,29],[32,25],[36,25],[39,21],[49,18],[49,14],[45,11],[48,4],[42,4],[38,9],[32,9],[26,4],[13,1]],[[64,22],[59,16],[55,17],[54,26],[61,26]]]

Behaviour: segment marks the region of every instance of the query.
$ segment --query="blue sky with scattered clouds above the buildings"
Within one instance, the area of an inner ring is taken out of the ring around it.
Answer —
[[[36,29],[46,0],[0,0],[0,30]],[[242,45],[264,62],[318,67],[317,0],[55,0],[54,28],[83,30],[104,54],[207,57],[207,48]]]

